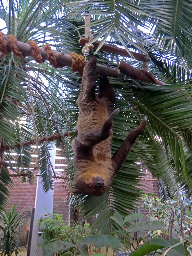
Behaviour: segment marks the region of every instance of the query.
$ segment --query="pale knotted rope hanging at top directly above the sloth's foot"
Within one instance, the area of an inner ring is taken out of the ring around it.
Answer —
[[[92,51],[94,45],[93,44],[90,44],[90,42],[93,40],[93,35],[91,34],[91,21],[90,21],[90,15],[89,13],[87,12],[85,14],[85,38],[88,38],[89,39],[89,42],[86,43],[82,49],[82,53],[85,57],[85,59],[87,58],[87,55],[89,54],[89,52]]]

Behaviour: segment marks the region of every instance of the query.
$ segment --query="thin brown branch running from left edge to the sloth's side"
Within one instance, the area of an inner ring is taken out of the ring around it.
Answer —
[[[29,141],[26,141],[26,142],[23,142],[21,144],[19,143],[15,143],[13,146],[12,145],[4,145],[4,146],[1,146],[0,147],[0,152],[3,152],[4,150],[10,150],[10,149],[14,149],[14,148],[19,148],[19,147],[27,147],[29,145],[39,145],[39,144],[42,144],[44,141],[52,141],[52,140],[58,140],[62,137],[65,137],[65,136],[73,136],[76,132],[64,132],[64,133],[55,133],[51,136],[48,136],[48,137],[43,137],[41,139],[34,139],[34,140],[29,140]]]

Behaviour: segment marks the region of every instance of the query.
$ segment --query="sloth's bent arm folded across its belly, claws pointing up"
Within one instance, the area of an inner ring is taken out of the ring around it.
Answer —
[[[102,125],[101,129],[98,131],[90,130],[90,132],[80,132],[76,137],[76,142],[79,148],[89,148],[95,146],[97,143],[101,142],[102,140],[106,140],[111,132],[113,126],[113,118],[119,112],[119,108],[116,108],[111,115],[107,118],[107,120]]]

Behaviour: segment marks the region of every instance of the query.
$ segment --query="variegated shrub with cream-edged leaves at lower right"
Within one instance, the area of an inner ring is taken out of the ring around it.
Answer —
[[[192,199],[186,199],[180,195],[176,199],[167,199],[162,201],[156,194],[143,195],[143,208],[148,209],[148,220],[161,220],[164,222],[166,231],[149,231],[148,237],[158,237],[169,241],[170,239],[180,239],[184,243],[185,250],[192,255],[191,231],[192,231]],[[189,240],[189,241],[188,241]]]

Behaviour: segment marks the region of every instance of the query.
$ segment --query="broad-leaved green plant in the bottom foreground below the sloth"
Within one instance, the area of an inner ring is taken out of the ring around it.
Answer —
[[[94,248],[101,248],[103,246],[109,246],[115,249],[124,251],[125,255],[129,256],[148,256],[148,255],[162,255],[162,256],[186,256],[189,253],[185,250],[184,241],[178,239],[170,239],[169,241],[163,239],[162,237],[147,237],[146,242],[140,247],[132,248],[133,245],[131,234],[138,231],[145,230],[162,230],[167,231],[164,222],[160,220],[147,220],[138,221],[138,219],[143,218],[144,215],[140,213],[133,213],[122,218],[122,216],[115,212],[111,217],[114,225],[114,231],[111,235],[92,235],[84,237],[77,244],[55,241],[50,244],[43,246],[43,256],[52,256],[53,253],[58,251],[68,252],[69,249],[75,248],[76,254],[82,256],[94,255],[89,254],[88,245],[92,245]],[[130,222],[134,222],[132,225]],[[188,237],[188,241],[192,237]],[[100,250],[97,252],[100,253]],[[151,254],[152,253],[152,254]]]

